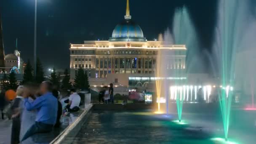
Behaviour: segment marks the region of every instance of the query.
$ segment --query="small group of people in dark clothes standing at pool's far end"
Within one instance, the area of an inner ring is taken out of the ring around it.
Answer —
[[[112,83],[109,84],[109,87],[104,86],[99,92],[99,103],[101,103],[101,101],[104,104],[114,104],[114,88]]]

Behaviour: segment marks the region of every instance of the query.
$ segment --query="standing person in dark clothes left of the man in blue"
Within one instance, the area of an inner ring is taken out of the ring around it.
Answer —
[[[12,127],[11,127],[11,144],[19,144],[19,135],[21,130],[21,107],[23,104],[23,86],[20,85],[16,90],[16,98],[11,105]]]

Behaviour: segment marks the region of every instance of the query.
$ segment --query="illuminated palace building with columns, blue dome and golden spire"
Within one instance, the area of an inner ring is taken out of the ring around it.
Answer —
[[[185,69],[186,46],[148,41],[141,27],[132,21],[127,0],[125,19],[117,24],[109,40],[70,44],[71,79],[82,67],[90,77],[91,85],[97,85],[97,81],[128,85],[129,77],[155,75],[157,55],[162,50],[173,53],[165,59],[168,61],[166,69]]]

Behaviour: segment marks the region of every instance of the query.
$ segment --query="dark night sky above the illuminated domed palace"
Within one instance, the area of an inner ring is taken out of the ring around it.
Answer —
[[[69,43],[108,40],[125,15],[126,0],[37,0],[37,53],[45,68],[69,67]],[[210,50],[216,23],[217,0],[130,0],[133,21],[147,40],[171,27],[175,8],[186,5],[200,37]],[[33,59],[35,0],[0,0],[5,54],[15,40],[21,57]]]

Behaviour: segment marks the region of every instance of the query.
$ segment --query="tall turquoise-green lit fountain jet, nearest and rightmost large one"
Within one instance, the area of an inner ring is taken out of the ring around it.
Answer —
[[[225,140],[228,139],[229,116],[232,104],[232,88],[234,85],[234,61],[237,49],[245,47],[244,36],[248,22],[248,1],[219,0],[217,27],[213,46],[215,69],[219,71],[221,91],[219,103],[224,126]],[[207,90],[207,88],[204,88]]]

